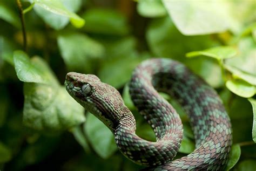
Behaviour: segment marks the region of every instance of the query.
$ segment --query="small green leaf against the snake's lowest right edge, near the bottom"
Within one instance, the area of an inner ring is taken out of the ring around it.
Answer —
[[[225,170],[232,169],[235,166],[235,164],[238,162],[240,155],[241,155],[240,146],[238,144],[232,145],[231,151],[230,151],[230,157],[228,158]]]

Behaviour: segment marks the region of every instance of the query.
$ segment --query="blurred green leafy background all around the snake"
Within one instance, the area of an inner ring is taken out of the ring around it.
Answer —
[[[127,83],[143,60],[179,60],[213,86],[233,128],[226,170],[256,170],[256,2],[175,0],[0,1],[0,170],[139,170],[113,135],[63,86],[69,71],[118,89],[137,134],[154,133]],[[25,41],[24,41],[25,40]],[[179,104],[184,139],[194,150]]]

